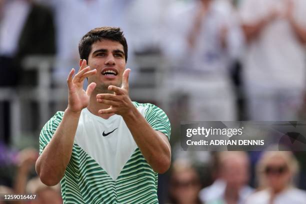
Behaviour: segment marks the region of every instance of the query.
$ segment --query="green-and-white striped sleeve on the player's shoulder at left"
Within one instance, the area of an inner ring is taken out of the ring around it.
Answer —
[[[39,135],[39,155],[44,147],[49,143],[57,126],[59,125],[63,116],[62,111],[57,111],[51,119],[49,119],[42,127]]]

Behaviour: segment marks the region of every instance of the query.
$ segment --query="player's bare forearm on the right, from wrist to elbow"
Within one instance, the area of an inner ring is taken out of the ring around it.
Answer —
[[[171,150],[166,136],[154,130],[135,107],[123,119],[145,160],[155,172],[165,172],[171,162]]]

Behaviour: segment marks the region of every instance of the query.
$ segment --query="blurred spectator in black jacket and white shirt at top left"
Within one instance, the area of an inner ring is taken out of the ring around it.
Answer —
[[[35,73],[22,68],[30,54],[55,52],[52,13],[32,0],[0,1],[0,87],[35,82]],[[8,101],[0,101],[0,139],[9,142]],[[2,110],[2,111],[1,111]]]

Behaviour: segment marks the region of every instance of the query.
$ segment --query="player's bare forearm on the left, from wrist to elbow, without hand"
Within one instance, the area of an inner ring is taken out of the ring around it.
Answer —
[[[36,161],[36,172],[46,185],[57,184],[69,163],[80,113],[65,110],[50,142]]]

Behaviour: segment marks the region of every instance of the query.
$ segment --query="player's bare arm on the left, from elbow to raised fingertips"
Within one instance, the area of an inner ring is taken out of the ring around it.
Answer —
[[[72,77],[74,74],[73,68],[69,73],[67,78],[69,88],[68,107],[51,140],[41,152],[35,165],[36,172],[41,181],[48,186],[57,184],[65,173],[72,153],[80,111],[88,105],[89,97],[96,86],[92,82],[88,85],[87,90],[84,91],[83,80],[95,73],[96,69],[90,70],[89,66],[86,67],[86,60],[82,61],[74,77]],[[49,131],[45,132],[49,134]]]

